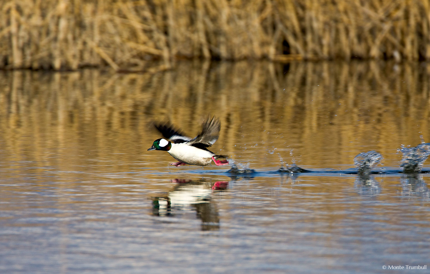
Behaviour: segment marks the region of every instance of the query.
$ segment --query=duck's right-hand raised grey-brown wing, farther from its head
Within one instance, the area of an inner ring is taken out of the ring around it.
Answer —
[[[216,140],[218,140],[219,132],[221,130],[221,123],[218,119],[209,117],[202,124],[202,132],[199,133],[194,139],[191,139],[190,142],[187,142],[187,145],[192,145],[198,148],[207,148],[213,145]]]

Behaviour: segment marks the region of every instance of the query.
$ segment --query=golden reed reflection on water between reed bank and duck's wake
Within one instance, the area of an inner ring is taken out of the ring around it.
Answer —
[[[311,168],[352,167],[368,150],[397,167],[400,144],[430,138],[429,68],[181,62],[156,74],[2,72],[3,166],[34,161],[86,170],[111,159],[111,169],[165,167],[170,156],[146,151],[160,137],[151,122],[169,120],[194,137],[215,114],[222,128],[213,151],[253,168],[279,166],[279,157]]]

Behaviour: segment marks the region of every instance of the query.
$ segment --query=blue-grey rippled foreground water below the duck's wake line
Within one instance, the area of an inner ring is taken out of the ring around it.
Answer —
[[[61,171],[43,181],[34,172],[2,177],[3,272],[161,273],[176,265],[215,273],[382,273],[382,265],[428,263],[425,174],[232,179],[190,168],[158,172],[160,179],[138,170],[63,182]],[[171,197],[169,214],[151,197]]]

